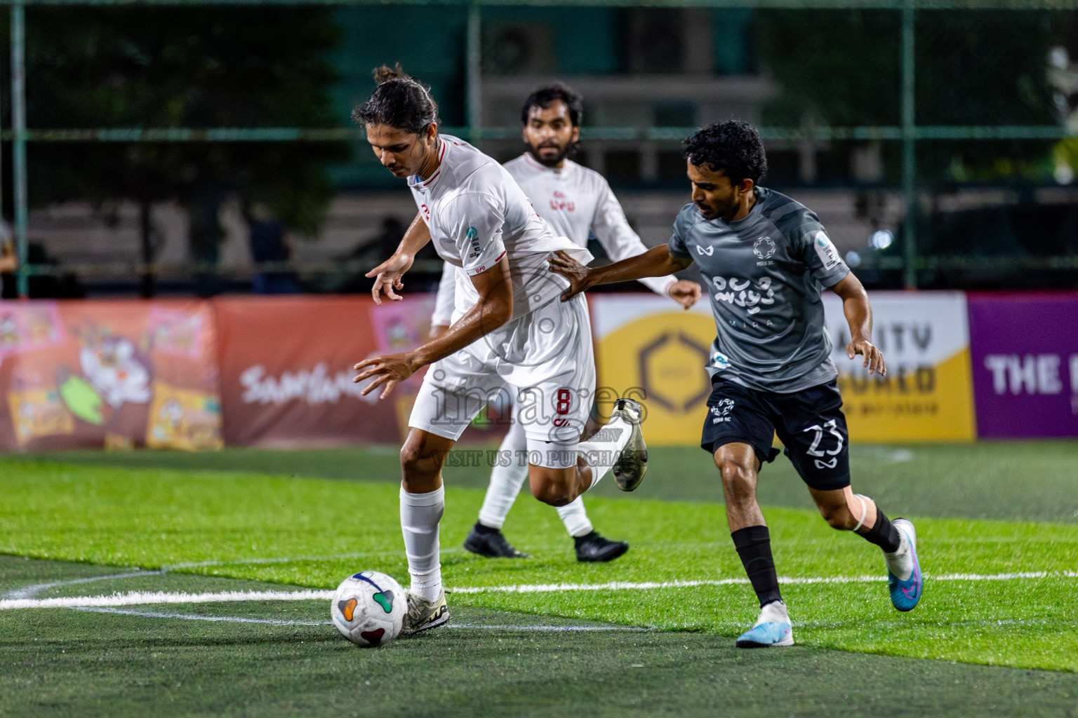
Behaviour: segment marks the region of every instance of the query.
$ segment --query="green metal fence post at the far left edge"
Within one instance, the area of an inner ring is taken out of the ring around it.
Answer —
[[[11,165],[15,200],[15,247],[18,253],[18,294],[29,292],[29,251],[26,239],[26,10],[23,0],[11,6]]]

